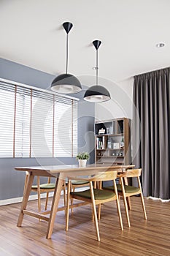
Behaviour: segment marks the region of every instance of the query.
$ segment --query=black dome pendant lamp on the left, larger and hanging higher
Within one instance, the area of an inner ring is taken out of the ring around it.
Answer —
[[[73,24],[63,23],[63,29],[66,31],[66,73],[58,75],[51,83],[51,89],[59,94],[76,94],[82,91],[80,81],[74,75],[68,74],[68,55],[69,55],[69,31]]]

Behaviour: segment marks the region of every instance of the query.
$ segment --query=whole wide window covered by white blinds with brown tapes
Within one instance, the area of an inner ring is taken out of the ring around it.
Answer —
[[[77,100],[0,83],[0,157],[75,157]]]

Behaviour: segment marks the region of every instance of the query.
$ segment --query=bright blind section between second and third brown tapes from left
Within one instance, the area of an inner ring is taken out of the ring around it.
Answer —
[[[53,157],[52,108],[53,94],[32,91],[31,155],[34,157]]]

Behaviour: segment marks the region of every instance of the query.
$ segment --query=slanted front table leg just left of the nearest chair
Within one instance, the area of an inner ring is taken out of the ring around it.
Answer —
[[[53,227],[54,227],[54,222],[55,222],[55,216],[56,212],[58,209],[58,203],[61,197],[61,190],[63,189],[63,179],[60,178],[60,176],[56,180],[55,184],[55,191],[53,195],[53,203],[51,206],[51,211],[50,211],[50,219],[48,222],[48,228],[47,228],[47,236],[46,238],[49,239],[52,236],[53,233]]]

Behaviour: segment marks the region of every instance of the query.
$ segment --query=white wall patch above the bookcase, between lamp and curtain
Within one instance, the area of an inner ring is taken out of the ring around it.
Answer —
[[[108,102],[95,104],[96,121],[103,121],[114,118],[132,118],[133,107],[133,78],[113,83],[109,80],[101,81],[102,86],[107,84],[107,89],[111,94]]]

